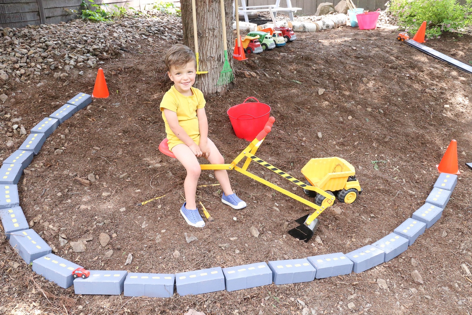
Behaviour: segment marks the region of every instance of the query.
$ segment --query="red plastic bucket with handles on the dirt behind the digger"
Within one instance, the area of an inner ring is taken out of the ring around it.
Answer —
[[[256,100],[256,102],[246,103],[250,98]],[[236,136],[247,141],[253,141],[269,119],[270,106],[250,96],[241,104],[230,107],[228,116]]]

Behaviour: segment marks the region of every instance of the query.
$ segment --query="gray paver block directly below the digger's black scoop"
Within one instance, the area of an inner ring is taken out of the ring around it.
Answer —
[[[269,262],[275,284],[308,282],[315,279],[316,269],[306,258]]]

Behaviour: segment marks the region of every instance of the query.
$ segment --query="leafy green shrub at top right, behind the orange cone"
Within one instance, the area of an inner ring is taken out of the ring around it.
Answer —
[[[443,32],[461,36],[472,26],[472,0],[465,0],[464,5],[457,0],[390,0],[387,10],[400,28],[412,34],[426,21],[427,38]]]

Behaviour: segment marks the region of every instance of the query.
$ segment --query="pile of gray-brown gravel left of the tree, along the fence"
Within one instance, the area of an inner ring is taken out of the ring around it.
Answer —
[[[17,83],[37,83],[56,69],[61,72],[54,73],[55,78],[67,79],[72,68],[95,68],[103,63],[101,59],[120,55],[120,49],[137,41],[177,41],[182,38],[182,20],[155,11],[110,23],[77,19],[23,28],[0,27],[0,34],[0,94],[4,94]]]

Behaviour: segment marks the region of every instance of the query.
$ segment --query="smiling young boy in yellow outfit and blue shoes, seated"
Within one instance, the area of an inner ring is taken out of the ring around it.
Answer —
[[[195,203],[200,164],[197,157],[203,156],[211,164],[223,164],[225,160],[216,146],[208,138],[208,121],[205,114],[205,99],[195,83],[196,60],[194,52],[185,45],[176,44],[167,51],[167,75],[174,85],[164,94],[160,102],[162,119],[166,124],[169,150],[187,171],[184,181],[185,203],[180,213],[185,221],[202,228],[202,219]],[[233,209],[242,209],[246,203],[233,192],[226,170],[215,170],[223,196],[221,201]]]

